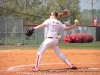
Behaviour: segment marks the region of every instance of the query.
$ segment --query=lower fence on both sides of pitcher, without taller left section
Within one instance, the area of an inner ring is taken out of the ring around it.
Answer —
[[[34,25],[33,25],[34,26]],[[28,29],[30,27],[33,27],[32,25],[26,25],[24,26],[25,29]],[[64,40],[64,36],[70,35],[72,33],[89,33],[94,37],[94,41],[96,41],[96,38],[99,35],[96,34],[96,29],[98,27],[93,27],[93,26],[77,26],[75,28],[73,28],[72,30],[69,31],[64,31],[64,30],[60,30],[59,31],[59,35],[61,35],[61,39],[59,39],[59,43],[63,43]],[[35,32],[33,33],[33,35],[31,37],[25,36],[25,40],[24,40],[24,44],[41,44],[42,41],[44,40],[44,28],[43,29],[39,29],[39,30],[35,30]],[[99,39],[100,40],[100,39]]]

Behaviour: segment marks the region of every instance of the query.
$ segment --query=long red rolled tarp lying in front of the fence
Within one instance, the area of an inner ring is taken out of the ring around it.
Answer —
[[[93,42],[94,38],[88,33],[75,33],[64,37],[64,43],[86,43]]]

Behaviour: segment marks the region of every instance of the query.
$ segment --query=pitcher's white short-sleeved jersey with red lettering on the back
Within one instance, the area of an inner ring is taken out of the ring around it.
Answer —
[[[45,37],[58,37],[59,29],[65,29],[66,26],[63,25],[57,19],[47,19],[43,22],[46,25]]]

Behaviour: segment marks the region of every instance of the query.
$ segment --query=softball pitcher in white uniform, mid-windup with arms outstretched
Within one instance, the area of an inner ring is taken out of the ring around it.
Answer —
[[[58,13],[52,12],[50,15],[50,18],[44,21],[41,25],[38,25],[34,27],[34,30],[46,27],[46,35],[45,40],[40,45],[38,51],[37,51],[37,59],[35,67],[32,69],[33,71],[39,70],[40,61],[42,59],[43,52],[48,48],[52,47],[54,52],[57,54],[57,56],[65,62],[70,68],[77,69],[73,64],[69,62],[69,60],[64,56],[64,54],[60,51],[60,48],[58,46],[58,31],[59,29],[63,30],[70,30],[74,28],[77,24],[75,23],[71,27],[66,27],[63,25],[60,21],[57,20]]]

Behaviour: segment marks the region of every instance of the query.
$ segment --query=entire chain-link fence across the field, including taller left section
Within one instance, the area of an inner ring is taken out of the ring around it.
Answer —
[[[41,44],[44,40],[44,29],[35,30],[31,37],[24,35],[25,30],[33,26],[23,25],[23,18],[20,17],[0,17],[0,44]],[[59,43],[63,43],[64,36],[72,33],[89,33],[94,37],[94,41],[100,41],[99,31],[100,27],[81,25],[69,31],[60,30]]]

